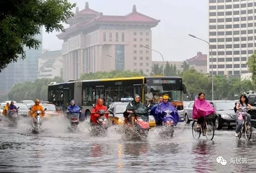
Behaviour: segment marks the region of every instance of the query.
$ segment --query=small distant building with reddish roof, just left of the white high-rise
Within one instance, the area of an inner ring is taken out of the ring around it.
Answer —
[[[198,72],[207,73],[207,55],[202,52],[197,52],[197,55],[186,60],[190,67],[193,67]]]

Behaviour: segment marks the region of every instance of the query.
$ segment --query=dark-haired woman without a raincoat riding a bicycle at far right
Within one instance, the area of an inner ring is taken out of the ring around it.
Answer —
[[[250,114],[246,113],[246,108],[249,107],[250,110],[253,109],[253,107],[248,103],[248,98],[245,94],[242,94],[240,96],[240,100],[236,103],[236,109],[237,109],[237,129],[235,136],[238,136],[241,132],[243,119],[245,119],[245,116],[247,116],[248,122],[251,122],[251,116]],[[249,126],[247,128],[250,128]]]

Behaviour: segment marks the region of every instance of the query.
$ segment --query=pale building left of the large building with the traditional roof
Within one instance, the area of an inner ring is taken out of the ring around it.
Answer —
[[[46,51],[38,59],[38,78],[57,76],[63,79],[62,52],[61,50]]]

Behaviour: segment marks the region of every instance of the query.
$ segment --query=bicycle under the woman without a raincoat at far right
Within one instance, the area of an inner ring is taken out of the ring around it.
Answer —
[[[244,132],[245,138],[247,140],[250,140],[251,139],[251,134],[252,134],[252,128],[251,128],[251,123],[248,121],[248,118],[247,118],[247,114],[248,114],[249,109],[246,108],[245,110],[241,110],[241,111],[245,112],[246,116],[245,116],[245,119],[243,118],[241,131],[240,131],[240,134],[237,136],[237,138],[240,139],[243,132]],[[248,126],[249,126],[249,129],[248,129]]]

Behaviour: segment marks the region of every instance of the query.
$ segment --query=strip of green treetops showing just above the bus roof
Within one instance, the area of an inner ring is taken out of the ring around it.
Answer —
[[[102,79],[102,78],[116,78],[116,77],[133,77],[133,76],[145,76],[143,72],[131,72],[131,71],[118,71],[111,72],[96,72],[96,73],[84,73],[81,74],[80,80],[90,79]]]

